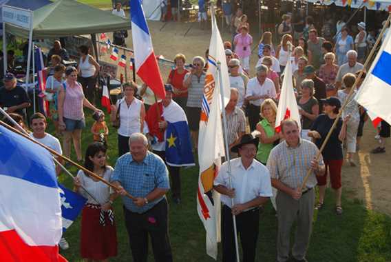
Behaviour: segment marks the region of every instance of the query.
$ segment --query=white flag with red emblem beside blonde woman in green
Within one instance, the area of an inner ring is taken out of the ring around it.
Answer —
[[[282,81],[281,94],[279,95],[277,116],[275,119],[275,132],[281,132],[281,122],[285,119],[293,119],[297,121],[299,130],[302,129],[300,121],[299,108],[295,99],[292,83],[292,64],[290,59],[286,63],[284,69],[284,80]]]

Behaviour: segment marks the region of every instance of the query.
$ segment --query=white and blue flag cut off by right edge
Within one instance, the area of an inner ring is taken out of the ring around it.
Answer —
[[[370,116],[379,117],[391,124],[391,30],[388,31],[355,100]],[[375,118],[372,118],[372,121]]]

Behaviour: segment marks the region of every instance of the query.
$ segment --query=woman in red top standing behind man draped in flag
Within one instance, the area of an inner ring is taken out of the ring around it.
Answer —
[[[173,86],[173,101],[176,101],[184,110],[187,103],[187,88],[183,85],[183,79],[189,70],[184,68],[184,63],[186,63],[184,54],[177,54],[173,61],[176,67],[170,71],[167,83]]]

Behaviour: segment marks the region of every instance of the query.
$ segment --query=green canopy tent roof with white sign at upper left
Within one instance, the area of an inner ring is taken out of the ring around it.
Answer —
[[[130,28],[129,18],[74,0],[57,0],[33,12],[33,39],[70,37]],[[6,32],[28,39],[29,30],[6,23]]]

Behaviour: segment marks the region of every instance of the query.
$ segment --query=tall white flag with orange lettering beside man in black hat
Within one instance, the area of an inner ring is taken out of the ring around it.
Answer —
[[[213,190],[213,181],[218,174],[220,159],[225,156],[222,132],[222,108],[229,102],[231,94],[229,74],[226,66],[224,45],[212,8],[212,35],[209,45],[209,68],[205,79],[200,132],[198,139],[198,179],[197,210],[207,231],[207,254],[217,259],[220,241],[220,194]],[[220,79],[217,62],[221,63],[223,93],[220,94]],[[224,105],[221,97],[224,97]]]

